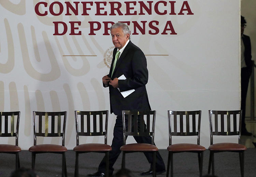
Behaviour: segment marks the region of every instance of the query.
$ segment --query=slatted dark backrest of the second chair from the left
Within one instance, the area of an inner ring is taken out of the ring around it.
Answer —
[[[65,146],[66,119],[67,111],[33,111],[34,145],[37,137],[62,137],[62,146]]]

